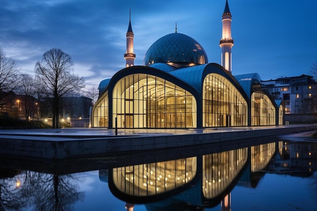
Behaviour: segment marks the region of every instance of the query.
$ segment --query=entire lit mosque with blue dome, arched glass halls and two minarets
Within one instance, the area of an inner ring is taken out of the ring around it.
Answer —
[[[258,73],[231,73],[231,13],[226,1],[220,39],[221,65],[204,48],[177,32],[156,40],[143,66],[134,66],[134,33],[127,31],[126,68],[100,82],[92,127],[208,128],[281,125],[283,100],[275,101]]]

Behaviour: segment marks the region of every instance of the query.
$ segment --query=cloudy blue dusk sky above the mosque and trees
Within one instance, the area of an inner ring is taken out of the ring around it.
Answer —
[[[317,1],[228,0],[232,14],[232,74],[257,72],[262,80],[310,74],[317,61]],[[175,32],[198,41],[209,62],[221,64],[219,40],[225,0],[0,0],[0,46],[22,71],[59,48],[74,73],[97,88],[125,67],[126,32],[134,32],[135,65],[147,49]]]

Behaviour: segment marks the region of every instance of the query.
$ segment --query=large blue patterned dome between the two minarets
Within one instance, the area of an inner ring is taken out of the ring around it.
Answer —
[[[172,33],[157,39],[147,50],[143,65],[153,63],[207,64],[204,48],[193,38],[181,33]]]

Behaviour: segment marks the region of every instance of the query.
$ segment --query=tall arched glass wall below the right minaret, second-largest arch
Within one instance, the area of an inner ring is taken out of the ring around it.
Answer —
[[[203,126],[248,124],[247,102],[232,83],[219,74],[208,74],[203,86]]]

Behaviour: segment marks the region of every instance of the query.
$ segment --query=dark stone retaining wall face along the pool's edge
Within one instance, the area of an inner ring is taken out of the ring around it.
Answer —
[[[262,130],[242,130],[232,132],[212,132],[184,135],[104,137],[78,140],[48,141],[31,137],[3,136],[0,138],[0,153],[34,158],[64,159],[109,155],[118,152],[137,150],[166,149],[183,146],[196,146],[233,140],[277,136],[315,130],[314,125],[293,126]]]

